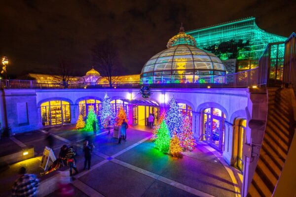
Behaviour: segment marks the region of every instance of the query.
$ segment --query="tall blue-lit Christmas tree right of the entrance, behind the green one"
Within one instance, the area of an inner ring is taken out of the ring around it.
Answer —
[[[169,109],[166,114],[166,123],[168,125],[170,135],[173,135],[173,132],[176,131],[177,134],[180,133],[181,128],[182,128],[182,120],[183,120],[183,115],[179,111],[179,106],[173,97],[170,100],[169,103]]]

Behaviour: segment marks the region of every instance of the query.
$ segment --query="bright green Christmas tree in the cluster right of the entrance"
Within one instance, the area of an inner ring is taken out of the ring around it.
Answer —
[[[163,120],[159,126],[157,138],[155,139],[155,147],[163,153],[168,153],[170,149],[170,131]]]

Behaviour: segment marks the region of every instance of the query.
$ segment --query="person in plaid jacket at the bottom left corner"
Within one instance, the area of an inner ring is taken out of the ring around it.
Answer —
[[[21,167],[19,169],[20,177],[12,186],[11,197],[36,197],[39,180],[35,174],[26,174],[27,169]]]

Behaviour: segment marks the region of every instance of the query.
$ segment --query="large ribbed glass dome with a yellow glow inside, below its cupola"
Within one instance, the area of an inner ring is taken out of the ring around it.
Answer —
[[[142,83],[197,82],[202,76],[225,74],[216,55],[181,41],[177,39],[175,46],[169,41],[168,49],[148,60],[141,72]]]

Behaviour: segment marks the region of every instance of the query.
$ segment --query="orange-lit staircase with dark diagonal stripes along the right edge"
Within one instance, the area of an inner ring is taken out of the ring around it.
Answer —
[[[294,134],[293,89],[268,88],[268,112],[259,161],[248,197],[271,197]]]

